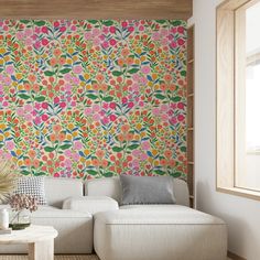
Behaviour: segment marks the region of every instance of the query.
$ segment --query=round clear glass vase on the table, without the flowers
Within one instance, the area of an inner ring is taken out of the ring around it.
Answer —
[[[9,224],[12,230],[22,230],[31,225],[31,218],[29,210],[22,209],[19,212],[13,212],[13,216]]]

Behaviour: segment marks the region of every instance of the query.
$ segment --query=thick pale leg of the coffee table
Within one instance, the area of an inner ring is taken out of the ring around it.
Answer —
[[[54,260],[54,239],[29,243],[29,260]]]

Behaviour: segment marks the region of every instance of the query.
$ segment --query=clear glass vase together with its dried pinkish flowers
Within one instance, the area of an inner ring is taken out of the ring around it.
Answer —
[[[14,213],[9,227],[13,230],[20,230],[31,225],[29,212],[37,210],[37,199],[34,196],[26,194],[12,195],[10,206]]]

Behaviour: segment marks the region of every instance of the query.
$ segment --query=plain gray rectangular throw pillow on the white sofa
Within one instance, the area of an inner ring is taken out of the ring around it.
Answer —
[[[175,204],[173,177],[120,175],[121,205]]]

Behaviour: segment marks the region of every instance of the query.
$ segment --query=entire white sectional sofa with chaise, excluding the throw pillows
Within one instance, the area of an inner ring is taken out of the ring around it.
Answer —
[[[58,231],[55,253],[91,253],[101,260],[226,260],[227,227],[188,207],[184,181],[174,180],[175,205],[119,206],[119,178],[45,178],[48,206],[32,223]],[[85,196],[83,196],[85,195]],[[4,246],[0,253],[25,248]]]

